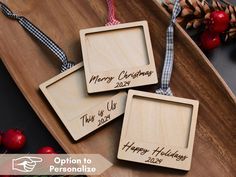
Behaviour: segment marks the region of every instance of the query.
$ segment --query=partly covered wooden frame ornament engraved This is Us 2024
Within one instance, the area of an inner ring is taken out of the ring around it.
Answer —
[[[39,87],[74,140],[81,139],[124,113],[126,92],[88,95],[83,63]]]

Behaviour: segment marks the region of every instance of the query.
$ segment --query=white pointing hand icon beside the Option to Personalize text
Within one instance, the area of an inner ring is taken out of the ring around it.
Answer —
[[[20,157],[12,160],[12,170],[20,172],[32,172],[38,162],[42,162],[40,157]]]

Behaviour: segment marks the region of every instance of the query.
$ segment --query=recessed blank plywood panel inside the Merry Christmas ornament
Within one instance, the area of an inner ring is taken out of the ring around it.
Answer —
[[[85,38],[90,72],[149,64],[142,26],[88,33]]]

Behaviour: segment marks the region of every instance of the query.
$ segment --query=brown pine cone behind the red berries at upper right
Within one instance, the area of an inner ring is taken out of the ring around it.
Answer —
[[[163,0],[162,5],[169,12],[172,12],[173,1]],[[212,0],[211,3],[206,0],[180,0],[180,6],[182,10],[177,22],[187,30],[198,30],[198,33],[205,28],[205,22],[209,19],[211,12],[216,10],[225,11],[230,17],[229,28],[224,33],[225,42],[236,39],[236,6],[224,0]]]

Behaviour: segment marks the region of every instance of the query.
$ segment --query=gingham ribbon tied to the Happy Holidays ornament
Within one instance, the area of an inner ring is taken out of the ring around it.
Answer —
[[[162,70],[161,88],[156,90],[157,94],[169,95],[169,96],[173,95],[169,84],[170,84],[170,78],[173,68],[173,59],[174,59],[174,24],[176,21],[176,17],[180,13],[180,11],[181,7],[179,4],[179,0],[175,0],[171,22],[166,32],[165,62]]]

